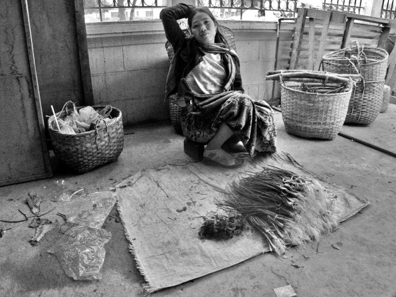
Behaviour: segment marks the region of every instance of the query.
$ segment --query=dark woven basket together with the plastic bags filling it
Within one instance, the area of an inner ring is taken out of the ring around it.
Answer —
[[[76,107],[72,101],[49,117],[48,129],[56,157],[84,173],[116,161],[124,148],[122,113],[107,106]]]

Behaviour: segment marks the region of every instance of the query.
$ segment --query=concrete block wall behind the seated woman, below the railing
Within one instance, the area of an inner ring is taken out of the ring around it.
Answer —
[[[222,24],[234,31],[247,94],[270,101],[272,81],[265,75],[274,67],[277,24]],[[281,31],[281,47],[290,45],[292,28]],[[121,109],[126,125],[169,118],[164,101],[169,60],[159,21],[87,25],[87,38],[95,104]]]

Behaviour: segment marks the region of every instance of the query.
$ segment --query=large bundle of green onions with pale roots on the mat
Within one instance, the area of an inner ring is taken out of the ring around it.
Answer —
[[[278,254],[337,226],[337,197],[317,180],[288,170],[265,167],[235,182],[230,194],[224,204],[239,211]]]

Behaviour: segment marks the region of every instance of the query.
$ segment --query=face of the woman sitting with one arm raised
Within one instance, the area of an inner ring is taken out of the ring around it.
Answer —
[[[214,43],[216,28],[213,20],[204,12],[198,12],[191,22],[193,36],[200,44]]]

